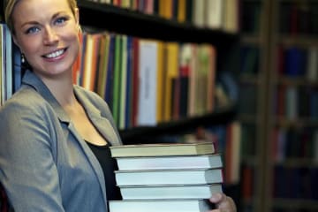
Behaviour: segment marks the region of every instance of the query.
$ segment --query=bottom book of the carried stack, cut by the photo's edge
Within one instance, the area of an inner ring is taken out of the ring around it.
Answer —
[[[110,212],[206,212],[213,205],[205,199],[110,201]]]

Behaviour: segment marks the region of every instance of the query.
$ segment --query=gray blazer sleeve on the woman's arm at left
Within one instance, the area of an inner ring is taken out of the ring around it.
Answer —
[[[16,212],[64,211],[48,113],[23,102],[0,112],[0,181]]]

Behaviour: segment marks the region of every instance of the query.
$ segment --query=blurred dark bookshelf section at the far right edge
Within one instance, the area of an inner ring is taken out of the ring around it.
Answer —
[[[317,1],[271,1],[263,211],[316,211]]]

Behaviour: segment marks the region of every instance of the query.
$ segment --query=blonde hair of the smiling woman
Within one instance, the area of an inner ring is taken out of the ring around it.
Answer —
[[[4,0],[4,20],[9,27],[11,34],[15,34],[12,13],[15,5],[17,5],[19,1],[21,0]],[[73,15],[75,15],[75,11],[77,8],[76,0],[67,0],[67,2],[70,5]]]

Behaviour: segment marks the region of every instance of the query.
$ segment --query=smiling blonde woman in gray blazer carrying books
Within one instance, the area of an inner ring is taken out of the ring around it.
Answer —
[[[120,199],[109,146],[121,145],[98,95],[72,85],[75,0],[5,0],[5,20],[32,71],[0,112],[0,181],[15,211],[108,211]],[[107,201],[106,201],[107,200]],[[222,193],[210,199],[236,211]],[[129,211],[129,209],[127,209]]]

